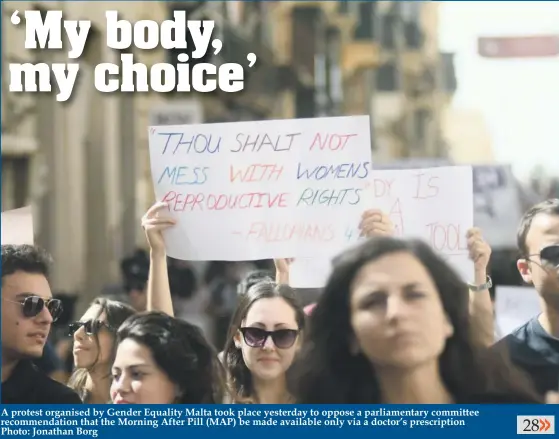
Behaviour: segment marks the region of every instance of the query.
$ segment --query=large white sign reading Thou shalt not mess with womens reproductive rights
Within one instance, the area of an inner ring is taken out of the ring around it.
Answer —
[[[359,223],[371,171],[368,116],[149,129],[169,256],[330,255]]]

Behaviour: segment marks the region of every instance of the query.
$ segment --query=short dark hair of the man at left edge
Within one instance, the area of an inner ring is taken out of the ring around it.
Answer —
[[[49,277],[52,257],[33,245],[2,246],[2,279],[17,271]]]

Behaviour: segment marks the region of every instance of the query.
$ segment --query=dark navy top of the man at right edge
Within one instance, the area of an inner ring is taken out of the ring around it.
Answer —
[[[512,363],[532,379],[541,395],[559,390],[559,339],[543,329],[538,317],[504,337],[494,348],[505,348]]]

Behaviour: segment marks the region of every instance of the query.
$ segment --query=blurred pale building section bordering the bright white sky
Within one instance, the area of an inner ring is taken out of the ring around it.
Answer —
[[[375,159],[444,157],[442,116],[456,90],[440,53],[437,2],[378,3],[381,63],[373,97]]]

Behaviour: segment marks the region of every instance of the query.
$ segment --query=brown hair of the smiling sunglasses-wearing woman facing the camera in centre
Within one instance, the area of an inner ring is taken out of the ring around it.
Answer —
[[[224,363],[227,368],[230,392],[236,401],[246,401],[253,398],[252,375],[246,366],[243,354],[235,346],[235,335],[246,319],[252,305],[261,299],[281,297],[295,312],[295,321],[299,329],[305,325],[305,314],[299,304],[295,291],[288,285],[278,285],[273,281],[260,281],[254,284],[244,295],[241,295],[239,305],[231,319],[227,334],[227,341],[223,350]]]

